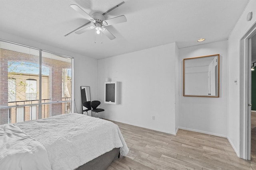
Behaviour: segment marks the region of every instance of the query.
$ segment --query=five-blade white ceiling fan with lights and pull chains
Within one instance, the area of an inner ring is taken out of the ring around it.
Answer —
[[[111,8],[110,10],[108,10],[107,12],[105,12],[103,14],[100,14],[98,12],[94,12],[92,14],[92,16],[87,14],[78,5],[75,5],[75,4],[70,5],[71,8],[73,8],[74,10],[76,10],[77,12],[79,12],[80,14],[82,14],[83,16],[85,16],[86,18],[88,18],[90,20],[90,22],[88,22],[88,23],[82,25],[81,27],[78,27],[77,29],[75,29],[74,30],[75,33],[76,34],[82,34],[86,31],[91,30],[91,29],[95,29],[95,32],[97,34],[104,33],[110,40],[115,39],[116,37],[112,33],[110,33],[110,31],[108,31],[108,29],[106,29],[105,26],[113,25],[113,24],[116,24],[116,23],[126,22],[127,21],[126,17],[124,15],[122,15],[122,16],[117,16],[117,17],[110,18],[110,19],[106,20],[104,15],[107,14],[108,12],[114,10],[118,6],[122,5],[123,3],[124,2],[121,2],[120,4],[118,4],[117,6],[114,6],[113,8]],[[85,27],[85,28],[83,28],[83,27]],[[78,30],[78,29],[80,29],[80,30]],[[78,31],[76,31],[76,30],[78,30]],[[71,31],[70,33],[74,32],[74,31]],[[65,36],[69,35],[70,33],[66,34]]]

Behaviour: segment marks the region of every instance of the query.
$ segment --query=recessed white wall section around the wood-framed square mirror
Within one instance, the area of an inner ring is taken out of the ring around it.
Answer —
[[[183,96],[183,59],[220,54],[220,98]],[[227,41],[179,50],[179,128],[226,137]]]

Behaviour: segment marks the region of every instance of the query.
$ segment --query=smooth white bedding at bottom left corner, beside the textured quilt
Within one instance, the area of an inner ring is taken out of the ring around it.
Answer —
[[[13,124],[0,125],[0,170],[50,170],[44,146]]]

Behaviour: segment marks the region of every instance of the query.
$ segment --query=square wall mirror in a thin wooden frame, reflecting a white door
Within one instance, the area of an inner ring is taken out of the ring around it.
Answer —
[[[183,59],[183,96],[219,97],[220,55]]]

